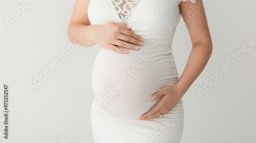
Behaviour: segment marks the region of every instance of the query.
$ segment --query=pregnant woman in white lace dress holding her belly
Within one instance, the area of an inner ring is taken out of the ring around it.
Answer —
[[[100,45],[92,69],[95,143],[180,142],[181,98],[212,51],[202,0],[185,1],[76,1],[69,40]],[[180,14],[193,48],[179,78],[172,42]]]

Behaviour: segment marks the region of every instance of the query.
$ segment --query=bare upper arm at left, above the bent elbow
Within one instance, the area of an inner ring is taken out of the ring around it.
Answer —
[[[69,25],[73,22],[80,22],[87,26],[91,25],[89,18],[88,18],[89,2],[90,2],[90,0],[76,0],[75,7],[73,10]]]

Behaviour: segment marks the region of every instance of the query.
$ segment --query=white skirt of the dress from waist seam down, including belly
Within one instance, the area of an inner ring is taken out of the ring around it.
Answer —
[[[144,40],[138,51],[126,49],[128,54],[100,47],[92,69],[91,125],[95,143],[180,141],[182,100],[159,118],[139,120],[160,100],[152,101],[152,94],[178,81],[171,46]]]

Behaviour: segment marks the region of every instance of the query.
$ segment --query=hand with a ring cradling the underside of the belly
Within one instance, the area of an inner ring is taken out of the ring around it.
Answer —
[[[158,118],[159,114],[168,113],[180,101],[184,95],[184,90],[177,84],[164,86],[161,90],[152,95],[152,99],[161,98],[156,106],[140,116],[139,120]]]

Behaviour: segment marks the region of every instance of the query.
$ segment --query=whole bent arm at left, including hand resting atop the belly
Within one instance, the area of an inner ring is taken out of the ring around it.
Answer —
[[[98,43],[105,49],[117,53],[127,54],[127,50],[120,49],[116,45],[131,50],[143,44],[143,38],[127,28],[126,25],[117,22],[108,22],[104,25],[93,25],[88,18],[88,5],[90,0],[77,0],[69,23],[68,38],[71,42],[83,46],[92,46]],[[82,35],[83,41],[75,42],[75,35]]]

